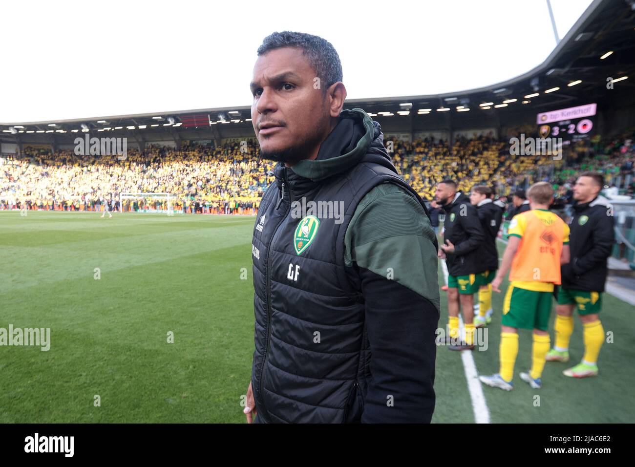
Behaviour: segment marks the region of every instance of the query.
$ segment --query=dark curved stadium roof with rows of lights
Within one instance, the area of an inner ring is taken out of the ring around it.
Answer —
[[[594,0],[551,55],[521,76],[453,93],[351,99],[345,107],[361,107],[380,121],[384,131],[415,131],[500,126],[528,114],[591,102],[605,103],[599,109],[627,106],[635,99],[634,57],[635,0]],[[522,60],[522,53],[509,59]],[[607,88],[610,78],[613,89]],[[132,136],[139,142],[218,140],[253,135],[250,117],[250,107],[240,106],[0,123],[0,140],[64,142],[90,131],[109,137]]]

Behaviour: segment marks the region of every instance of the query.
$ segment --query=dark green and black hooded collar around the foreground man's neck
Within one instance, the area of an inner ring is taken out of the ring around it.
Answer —
[[[304,159],[293,167],[279,162],[273,175],[278,189],[282,189],[284,183],[285,189],[290,188],[293,198],[297,198],[361,161],[377,162],[397,173],[384,147],[382,127],[356,108],[340,112],[337,125],[320,145],[316,159]]]

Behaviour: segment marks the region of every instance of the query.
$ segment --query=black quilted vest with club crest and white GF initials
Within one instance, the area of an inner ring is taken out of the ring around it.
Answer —
[[[359,201],[380,183],[405,187],[425,210],[418,194],[399,178],[378,123],[361,109],[343,111],[340,118],[357,119],[356,125],[366,128],[356,151],[349,152],[356,153],[352,165],[309,179],[278,164],[276,181],[258,208],[252,240],[251,384],[259,423],[360,421],[371,355],[359,279],[355,267],[344,265],[344,234]],[[320,152],[333,148],[335,130]],[[351,147],[348,137],[335,143]],[[318,159],[340,155],[319,154]],[[314,213],[315,218],[305,220],[305,213],[298,216],[293,209],[298,205],[292,205],[303,197],[307,207],[309,201],[342,201],[343,217]]]

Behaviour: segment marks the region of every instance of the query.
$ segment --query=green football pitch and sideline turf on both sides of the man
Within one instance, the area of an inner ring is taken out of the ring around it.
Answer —
[[[254,220],[0,212],[0,328],[51,329],[48,351],[0,346],[0,423],[244,423]],[[498,370],[502,299],[494,294],[488,349],[471,353],[478,374]],[[582,358],[577,317],[572,360],[548,362],[542,389],[518,378],[530,365],[530,332],[521,332],[514,390],[482,387],[483,400],[469,391],[470,358],[440,346],[432,421],[474,423],[478,412],[493,423],[631,423],[633,309],[608,294],[603,301],[613,342],[598,377],[562,375]]]

